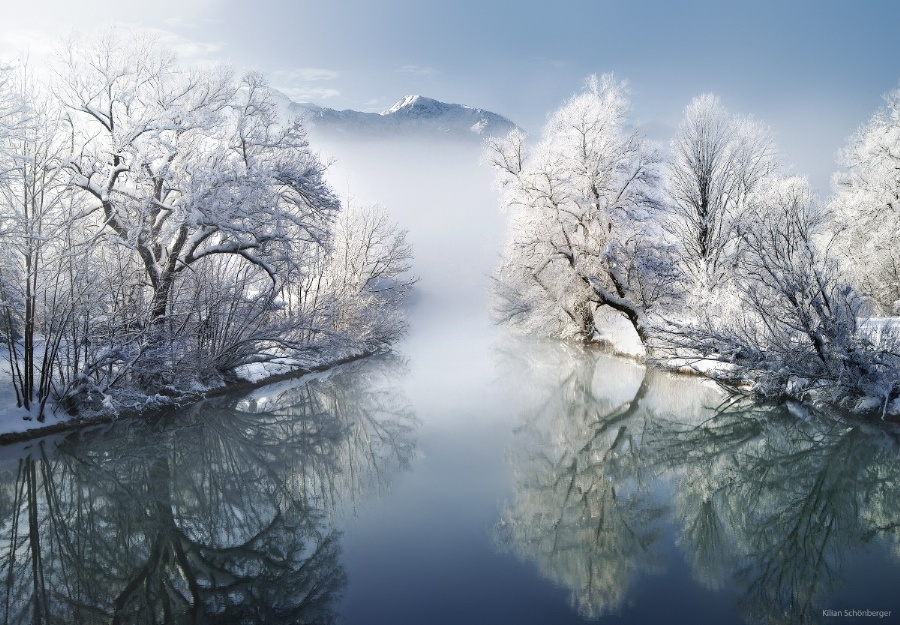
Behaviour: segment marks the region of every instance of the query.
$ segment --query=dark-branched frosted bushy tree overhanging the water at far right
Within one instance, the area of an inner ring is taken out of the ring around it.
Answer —
[[[868,397],[886,408],[900,392],[896,349],[860,326],[861,299],[817,244],[824,218],[806,181],[773,181],[750,196],[742,224],[735,305],[673,324],[675,355],[727,363],[711,375],[750,380],[761,396],[849,407]]]

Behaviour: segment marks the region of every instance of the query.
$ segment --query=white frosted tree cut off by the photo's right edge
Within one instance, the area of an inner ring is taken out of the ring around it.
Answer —
[[[840,153],[831,200],[835,246],[877,312],[900,312],[900,89]]]

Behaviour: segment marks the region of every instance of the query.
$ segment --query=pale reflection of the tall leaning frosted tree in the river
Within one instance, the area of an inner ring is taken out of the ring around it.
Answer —
[[[592,618],[625,600],[639,570],[661,564],[662,510],[646,496],[633,428],[649,386],[629,369],[618,386],[631,392],[603,395],[593,370],[569,350],[542,352],[536,360],[515,368],[543,371],[552,382],[521,385],[547,393],[519,432],[527,451],[516,460],[516,501],[502,516],[498,538],[571,589],[575,607]]]

